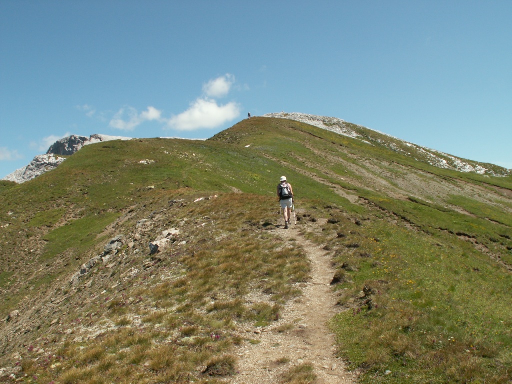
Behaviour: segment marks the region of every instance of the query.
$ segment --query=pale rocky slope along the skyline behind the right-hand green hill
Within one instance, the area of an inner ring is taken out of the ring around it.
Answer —
[[[385,146],[399,154],[411,156],[418,161],[423,161],[439,168],[455,169],[460,172],[475,172],[480,175],[492,176],[508,176],[512,174],[509,169],[494,164],[461,159],[420,145],[409,143],[378,131],[370,130],[360,125],[348,123],[345,120],[341,120],[336,117],[285,112],[271,113],[264,115],[264,117],[301,121],[306,124],[311,124],[324,130],[362,140],[373,145]]]

